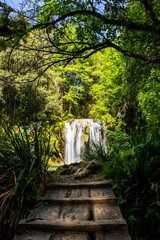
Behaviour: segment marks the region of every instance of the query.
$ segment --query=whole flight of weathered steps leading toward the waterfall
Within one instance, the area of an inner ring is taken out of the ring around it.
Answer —
[[[51,184],[14,240],[131,240],[109,181]]]

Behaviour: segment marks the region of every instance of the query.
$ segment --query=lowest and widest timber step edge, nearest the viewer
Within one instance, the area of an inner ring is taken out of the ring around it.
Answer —
[[[76,231],[76,232],[114,232],[121,231],[127,233],[127,224],[124,219],[114,219],[105,221],[77,221],[77,222],[54,222],[47,220],[21,220],[19,222],[19,233],[26,231]]]

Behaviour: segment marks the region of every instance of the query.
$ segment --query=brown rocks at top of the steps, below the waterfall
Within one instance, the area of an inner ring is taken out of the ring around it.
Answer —
[[[91,162],[79,162],[71,163],[69,165],[63,165],[57,168],[56,173],[59,175],[69,174],[73,175],[76,179],[86,178],[89,175],[99,173],[101,171],[101,165],[93,160]]]

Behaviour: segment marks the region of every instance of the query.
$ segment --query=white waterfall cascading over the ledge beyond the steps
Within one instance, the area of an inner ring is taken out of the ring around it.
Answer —
[[[105,145],[106,132],[102,122],[92,119],[76,119],[72,123],[65,123],[65,162],[67,164],[80,162],[85,144],[100,142]]]

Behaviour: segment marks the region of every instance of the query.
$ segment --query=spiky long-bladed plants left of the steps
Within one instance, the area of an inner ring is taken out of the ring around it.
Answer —
[[[20,218],[36,203],[45,189],[48,160],[53,154],[49,129],[1,127],[0,211],[1,237],[11,239]]]

